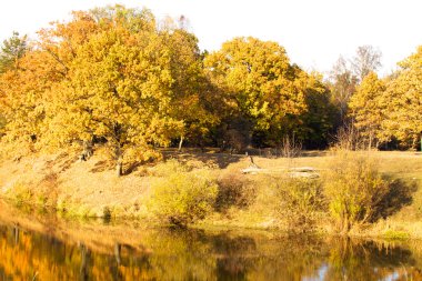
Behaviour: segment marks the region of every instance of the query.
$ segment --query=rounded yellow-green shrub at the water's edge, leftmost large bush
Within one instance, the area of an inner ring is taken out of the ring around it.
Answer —
[[[178,225],[203,219],[215,202],[218,185],[208,171],[175,172],[152,183],[149,208]]]

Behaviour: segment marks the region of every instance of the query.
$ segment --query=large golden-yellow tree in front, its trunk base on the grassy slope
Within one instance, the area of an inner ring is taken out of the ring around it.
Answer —
[[[169,114],[171,50],[158,32],[128,28],[123,10],[110,17],[76,51],[49,130],[51,142],[105,139],[120,175],[125,160],[148,160],[182,123]]]

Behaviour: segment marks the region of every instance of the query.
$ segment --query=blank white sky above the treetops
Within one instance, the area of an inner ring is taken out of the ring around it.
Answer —
[[[202,50],[251,36],[277,41],[291,62],[325,74],[340,56],[352,58],[370,44],[382,52],[379,73],[385,76],[422,44],[421,0],[10,0],[0,8],[0,41],[13,30],[34,39],[72,10],[115,3],[145,7],[158,19],[183,14]]]

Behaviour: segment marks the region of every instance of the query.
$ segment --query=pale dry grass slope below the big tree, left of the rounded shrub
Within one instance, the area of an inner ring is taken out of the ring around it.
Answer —
[[[101,171],[96,171],[100,167]],[[36,194],[48,191],[54,194],[58,207],[72,215],[102,217],[104,208],[113,215],[142,215],[149,180],[134,173],[117,178],[101,157],[80,162],[61,153],[9,160],[0,165],[0,194],[12,194],[13,188],[21,185]]]

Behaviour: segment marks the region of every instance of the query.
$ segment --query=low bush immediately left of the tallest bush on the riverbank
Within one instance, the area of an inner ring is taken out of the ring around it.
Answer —
[[[299,232],[312,229],[324,209],[321,182],[287,177],[277,181],[277,188],[279,215],[289,229]]]

